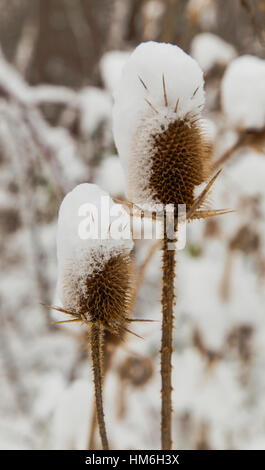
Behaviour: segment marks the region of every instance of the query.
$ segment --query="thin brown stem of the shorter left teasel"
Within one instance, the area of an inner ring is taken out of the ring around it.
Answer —
[[[109,449],[104,411],[103,411],[103,396],[102,396],[102,385],[103,385],[103,368],[102,368],[102,331],[100,325],[93,323],[91,325],[91,356],[92,366],[94,374],[94,386],[95,386],[95,399],[97,408],[97,421],[99,427],[99,434],[102,442],[103,450]]]

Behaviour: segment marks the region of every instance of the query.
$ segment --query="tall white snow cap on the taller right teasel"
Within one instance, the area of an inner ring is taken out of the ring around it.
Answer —
[[[197,62],[179,47],[150,41],[135,49],[114,94],[114,139],[126,177],[132,172],[137,180],[139,172],[148,188],[152,136],[176,119],[200,114],[203,84]],[[139,200],[153,202],[153,195],[147,189]]]

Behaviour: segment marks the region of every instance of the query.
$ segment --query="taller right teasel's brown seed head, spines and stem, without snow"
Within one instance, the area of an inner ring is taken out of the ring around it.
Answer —
[[[139,77],[141,84],[147,89],[145,82]],[[168,106],[166,81],[162,75],[164,105]],[[193,92],[191,99],[196,95],[198,88]],[[146,100],[152,111],[158,114],[155,106]],[[172,448],[172,378],[171,358],[173,342],[175,288],[174,278],[176,271],[176,241],[178,230],[178,205],[185,204],[187,209],[186,220],[208,218],[224,214],[226,210],[210,210],[206,207],[208,193],[220,174],[216,175],[206,184],[205,189],[196,198],[195,188],[206,183],[212,173],[212,145],[204,135],[200,115],[187,113],[184,118],[177,114],[179,99],[176,100],[176,119],[167,128],[161,126],[161,131],[152,135],[152,156],[150,167],[149,189],[153,199],[158,203],[174,206],[174,233],[175,238],[167,233],[166,220],[164,220],[164,238],[162,243],[162,343],[161,343],[161,445],[162,449]],[[130,209],[135,207],[128,203]],[[140,210],[137,207],[137,210]],[[152,216],[152,215],[151,215]],[[157,215],[155,216],[157,217]],[[154,217],[154,218],[155,218]],[[181,219],[180,219],[181,220]]]

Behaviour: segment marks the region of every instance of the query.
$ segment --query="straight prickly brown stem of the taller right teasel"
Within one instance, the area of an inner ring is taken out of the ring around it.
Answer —
[[[168,249],[168,244],[170,248]],[[165,235],[163,241],[163,288],[162,288],[162,344],[161,344],[161,380],[162,380],[162,403],[161,403],[161,446],[163,450],[172,447],[172,379],[171,379],[171,357],[174,321],[174,278],[176,253],[172,240]]]

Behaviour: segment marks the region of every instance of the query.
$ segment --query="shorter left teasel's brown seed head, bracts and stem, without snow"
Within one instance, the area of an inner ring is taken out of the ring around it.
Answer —
[[[76,280],[78,282],[78,279]],[[133,260],[128,254],[111,257],[102,270],[86,278],[88,294],[82,295],[75,284],[65,282],[68,298],[79,292],[78,305],[74,311],[61,307],[50,308],[72,317],[61,323],[80,322],[88,326],[89,345],[94,377],[96,415],[100,438],[104,450],[109,448],[104,411],[103,411],[103,375],[104,375],[104,335],[108,331],[114,336],[123,337],[130,332],[128,325],[130,305],[133,296]],[[135,333],[132,333],[135,334]]]

